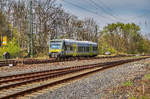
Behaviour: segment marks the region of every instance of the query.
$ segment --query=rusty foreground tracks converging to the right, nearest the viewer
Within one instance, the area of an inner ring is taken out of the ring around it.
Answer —
[[[146,58],[148,57],[0,77],[0,99],[16,99],[90,73]]]

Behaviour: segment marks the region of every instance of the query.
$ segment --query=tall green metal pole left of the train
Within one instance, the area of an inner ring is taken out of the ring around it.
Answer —
[[[30,33],[29,33],[29,54],[33,57],[33,13],[32,13],[32,0],[30,0]]]

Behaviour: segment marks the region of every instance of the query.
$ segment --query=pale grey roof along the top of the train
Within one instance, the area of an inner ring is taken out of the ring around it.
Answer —
[[[95,42],[91,42],[91,41],[77,41],[77,40],[72,40],[72,39],[54,39],[51,41],[65,41],[68,43],[80,43],[80,44],[92,44],[92,45],[97,45],[97,43]]]

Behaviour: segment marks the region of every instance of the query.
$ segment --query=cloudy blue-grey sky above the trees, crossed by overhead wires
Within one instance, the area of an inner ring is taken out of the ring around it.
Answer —
[[[109,23],[134,22],[143,33],[150,33],[150,0],[58,0],[66,12],[94,18],[100,29]]]

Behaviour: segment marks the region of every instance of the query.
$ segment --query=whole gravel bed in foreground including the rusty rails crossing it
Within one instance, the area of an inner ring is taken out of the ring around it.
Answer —
[[[0,99],[104,98],[108,88],[143,75],[148,57],[69,62],[56,63],[58,67],[46,64],[47,68],[45,64],[2,68],[5,75],[0,77]],[[20,75],[18,70],[22,72]]]

